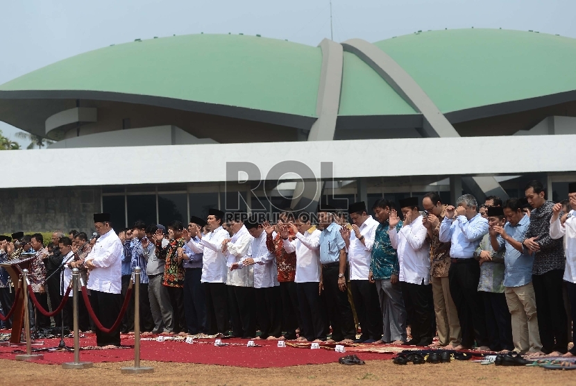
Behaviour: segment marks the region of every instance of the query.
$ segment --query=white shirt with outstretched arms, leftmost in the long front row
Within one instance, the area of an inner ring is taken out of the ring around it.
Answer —
[[[221,226],[202,236],[200,242],[190,239],[187,243],[194,253],[204,253],[202,259],[202,283],[226,283],[228,268],[226,255],[222,252],[222,242],[228,238],[228,231]]]

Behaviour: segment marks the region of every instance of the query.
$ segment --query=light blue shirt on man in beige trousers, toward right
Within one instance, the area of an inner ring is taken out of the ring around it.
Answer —
[[[516,226],[511,226],[510,223],[507,222],[504,230],[514,240],[523,242],[529,225],[530,217],[524,215]],[[527,253],[520,253],[520,251],[514,248],[514,246],[511,246],[509,242],[505,242],[502,236],[498,236],[498,244],[500,244],[500,251],[504,248],[506,249],[504,255],[505,287],[520,287],[520,285],[527,285],[532,282],[532,263],[534,262],[534,256]]]

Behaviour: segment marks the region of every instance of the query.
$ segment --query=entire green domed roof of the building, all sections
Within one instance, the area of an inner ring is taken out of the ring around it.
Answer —
[[[443,113],[576,90],[576,39],[569,37],[471,28],[374,44]],[[58,98],[53,96],[58,91],[68,92],[67,98],[74,91],[105,92],[315,119],[322,60],[319,47],[264,37],[163,37],[97,49],[37,69],[0,85],[0,99],[12,99],[12,92],[21,99]],[[340,116],[416,114],[369,65],[344,52]]]

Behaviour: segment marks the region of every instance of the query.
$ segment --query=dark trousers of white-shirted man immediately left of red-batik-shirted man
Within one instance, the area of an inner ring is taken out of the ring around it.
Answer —
[[[261,339],[282,335],[282,301],[280,287],[255,288],[256,321],[260,326]]]

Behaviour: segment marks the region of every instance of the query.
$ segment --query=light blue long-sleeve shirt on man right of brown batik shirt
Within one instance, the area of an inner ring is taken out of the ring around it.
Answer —
[[[452,242],[450,258],[471,259],[474,258],[474,251],[486,233],[488,233],[488,220],[480,213],[470,220],[466,219],[466,216],[457,216],[454,221],[444,217],[440,224],[439,240]]]

